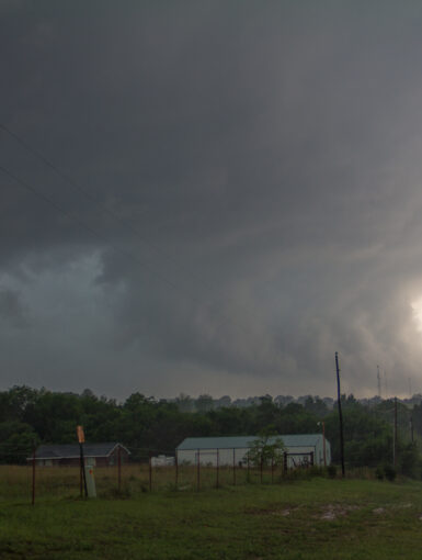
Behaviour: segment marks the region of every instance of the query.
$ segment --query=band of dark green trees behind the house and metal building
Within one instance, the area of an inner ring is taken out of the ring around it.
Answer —
[[[344,451],[349,467],[391,464],[394,401],[364,404],[342,395]],[[0,392],[0,461],[24,463],[37,444],[76,443],[76,426],[84,427],[87,441],[119,441],[142,459],[147,451],[174,452],[185,437],[255,436],[320,433],[324,423],[333,462],[340,460],[337,406],[308,396],[304,402],[283,404],[270,395],[253,399],[249,406],[213,407],[199,403],[186,410],[186,397],[156,400],[134,393],[123,403],[96,396],[13,387]],[[422,403],[398,403],[397,468],[422,477],[418,444],[422,440]]]

